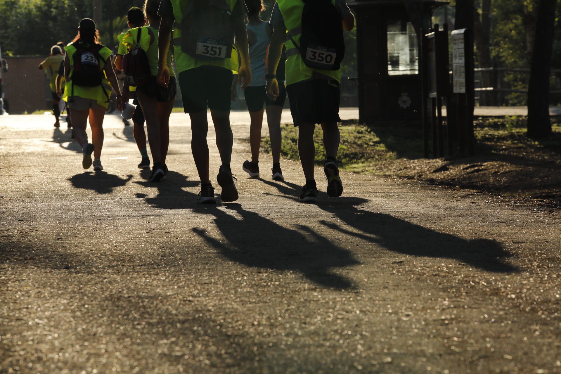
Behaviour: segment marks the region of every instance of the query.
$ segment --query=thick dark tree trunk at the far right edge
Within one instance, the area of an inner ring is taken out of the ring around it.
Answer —
[[[541,138],[551,135],[549,121],[549,78],[551,53],[555,29],[557,0],[540,0],[537,13],[536,38],[530,67],[528,87],[528,137]]]

